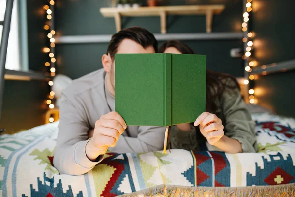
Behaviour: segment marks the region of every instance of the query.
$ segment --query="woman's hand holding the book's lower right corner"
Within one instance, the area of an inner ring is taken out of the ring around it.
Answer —
[[[194,123],[194,126],[198,125],[202,135],[211,145],[215,145],[224,136],[224,126],[215,114],[203,112]]]

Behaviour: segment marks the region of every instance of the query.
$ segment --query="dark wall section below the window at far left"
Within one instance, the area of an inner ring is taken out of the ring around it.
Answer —
[[[12,134],[44,124],[48,92],[45,81],[5,80],[0,128]]]

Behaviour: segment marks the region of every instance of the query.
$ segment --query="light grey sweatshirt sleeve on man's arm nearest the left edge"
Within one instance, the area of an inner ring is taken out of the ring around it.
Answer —
[[[89,131],[84,111],[74,96],[63,93],[59,108],[59,135],[54,152],[53,163],[60,174],[81,175],[90,171],[103,159],[96,162],[86,156],[85,146]]]

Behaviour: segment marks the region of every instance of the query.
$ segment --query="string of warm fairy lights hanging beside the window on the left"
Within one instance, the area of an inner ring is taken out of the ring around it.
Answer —
[[[48,31],[47,37],[49,39],[50,46],[49,47],[44,47],[43,52],[48,53],[48,56],[50,58],[49,62],[45,62],[46,67],[50,67],[50,77],[48,77],[46,80],[48,82],[49,86],[53,86],[53,77],[55,76],[55,38],[54,35],[56,34],[54,30],[54,21],[53,21],[53,10],[54,10],[54,0],[49,0],[48,4],[43,6],[43,9],[46,10],[46,22],[44,25],[44,30]],[[46,104],[48,105],[49,109],[53,109],[55,105],[53,104],[54,102],[54,91],[50,91],[50,93],[47,96]],[[54,122],[54,118],[50,117],[49,122]]]

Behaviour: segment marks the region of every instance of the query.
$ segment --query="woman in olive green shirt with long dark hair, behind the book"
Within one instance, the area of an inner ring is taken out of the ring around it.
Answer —
[[[162,44],[159,53],[194,54],[191,48],[177,40]],[[236,78],[207,70],[206,112],[193,124],[171,127],[171,148],[200,150],[207,140],[227,153],[255,152],[254,127]]]

